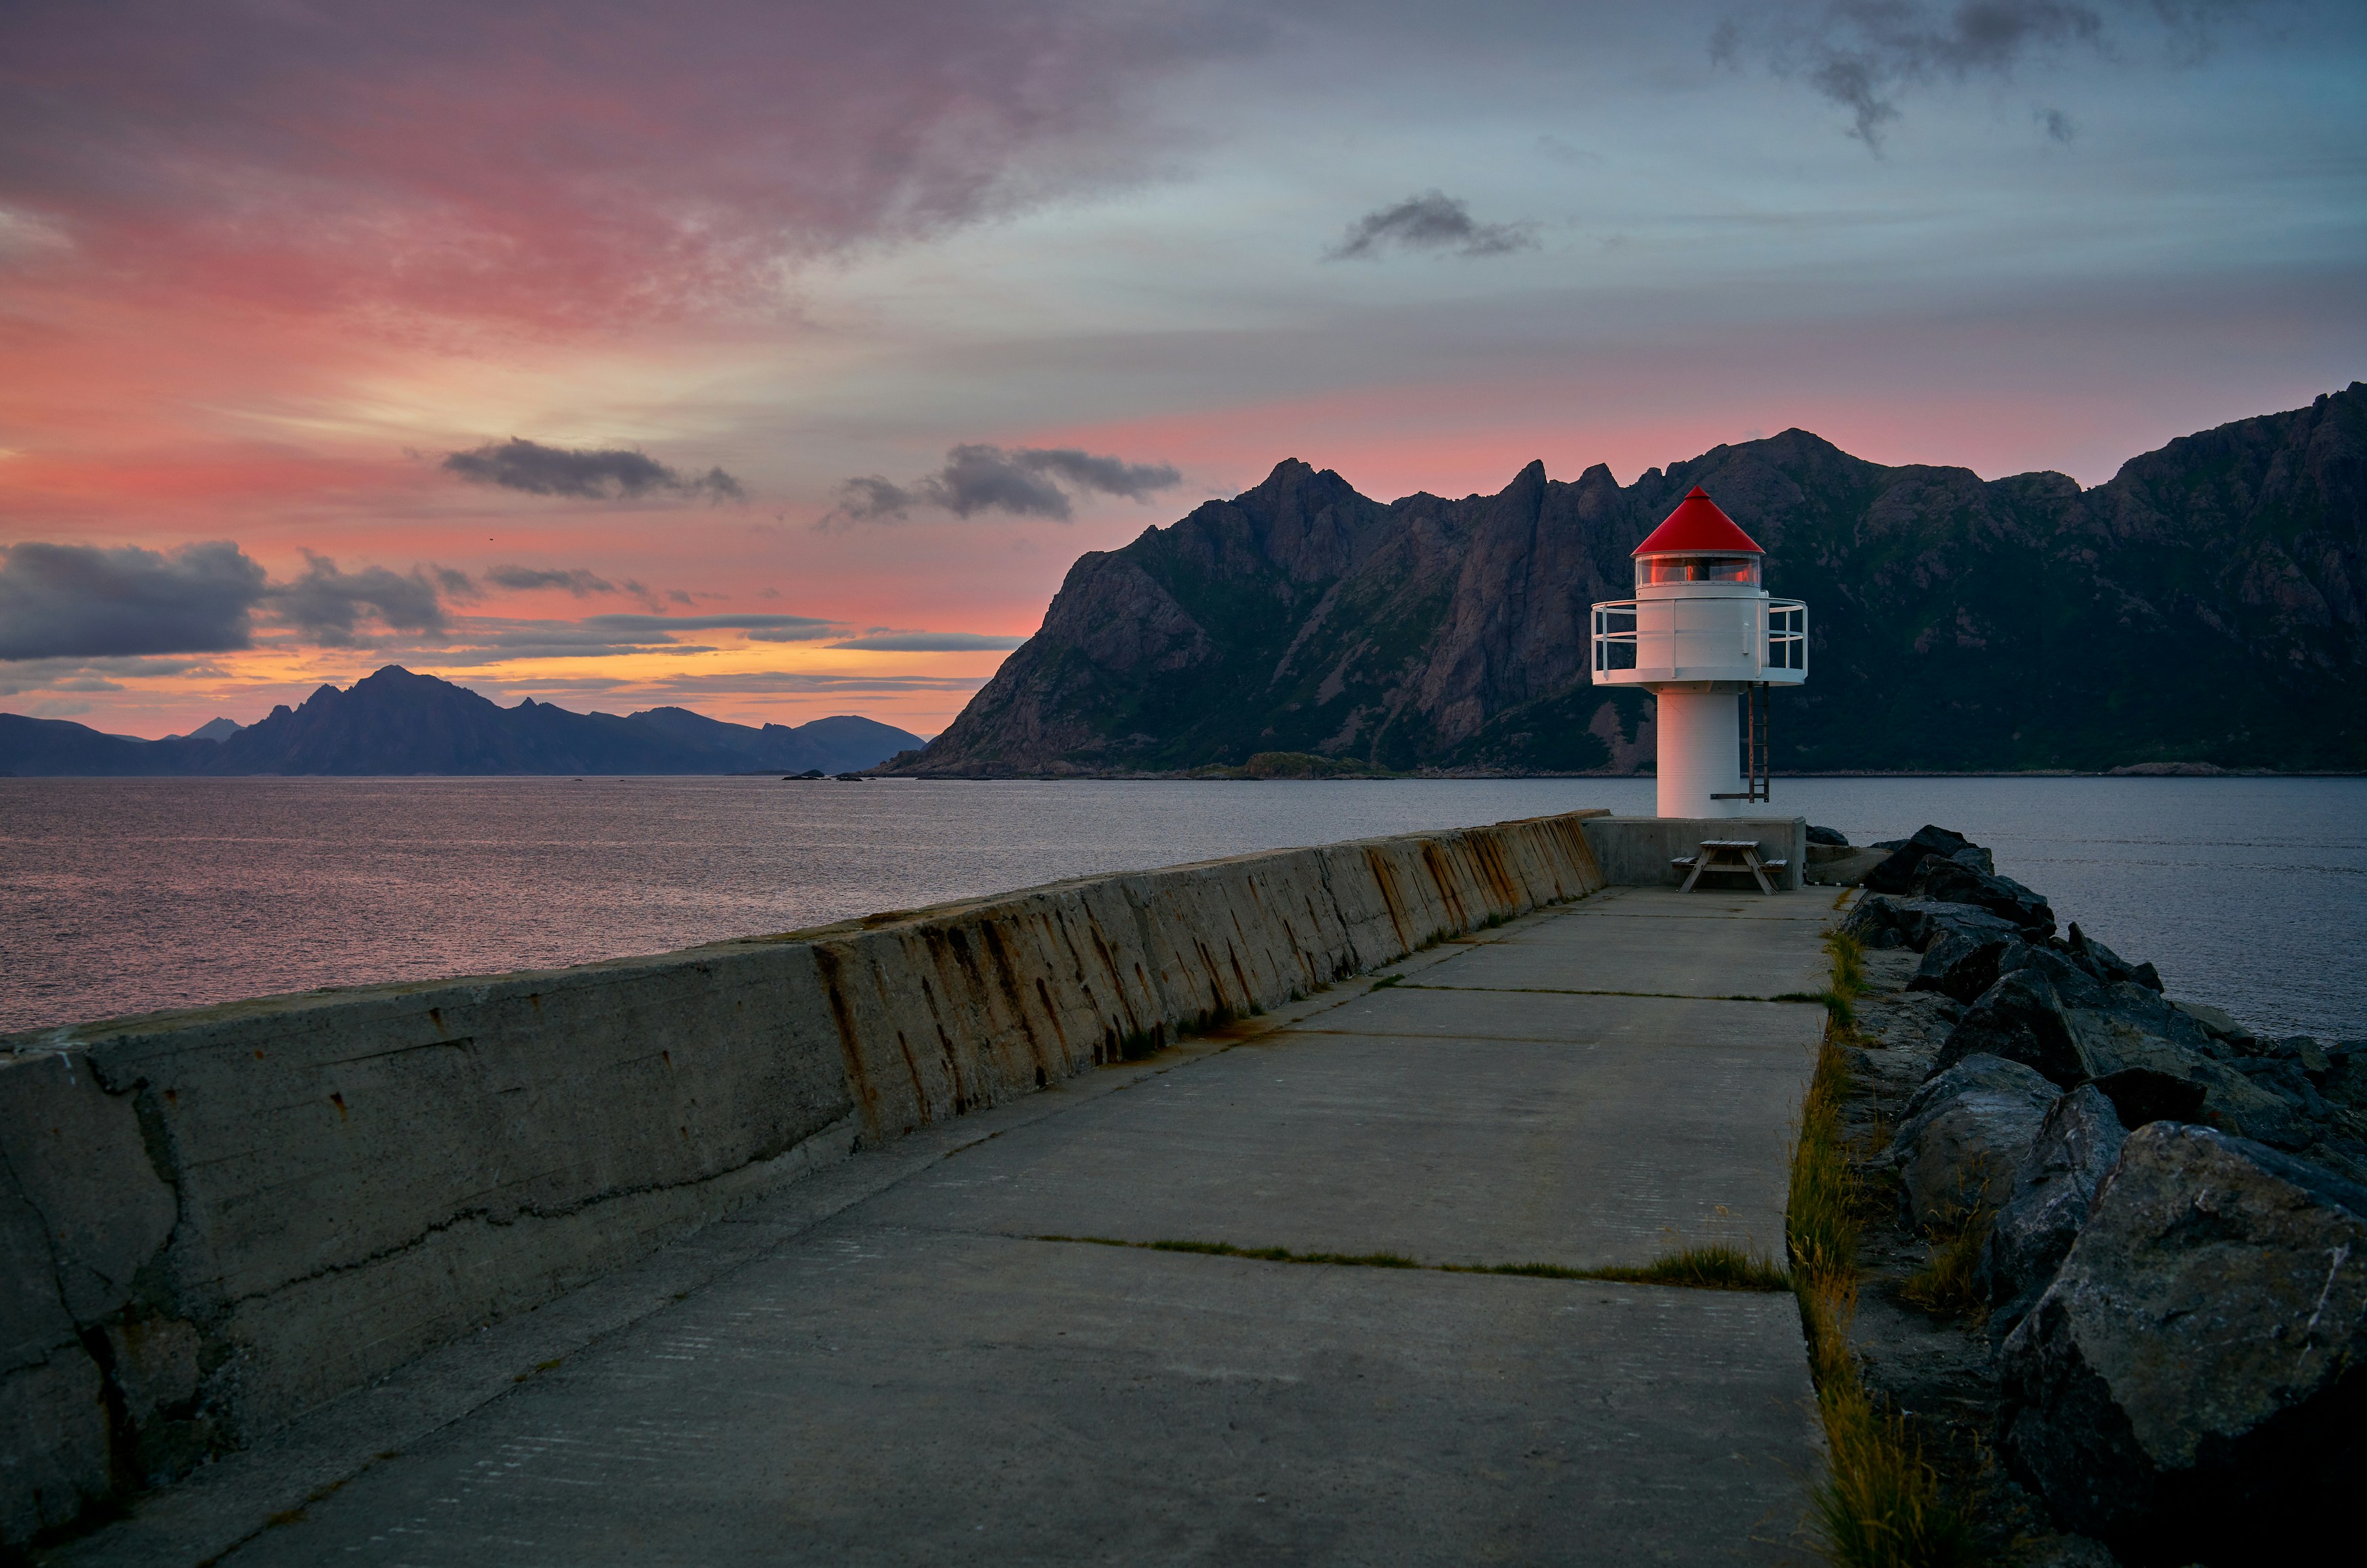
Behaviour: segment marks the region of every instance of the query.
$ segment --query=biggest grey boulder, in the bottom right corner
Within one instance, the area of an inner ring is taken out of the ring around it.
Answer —
[[[2140,1566],[2334,1561],[2367,1473],[2367,1187],[2140,1128],[1998,1369],[2005,1459],[2066,1528]]]

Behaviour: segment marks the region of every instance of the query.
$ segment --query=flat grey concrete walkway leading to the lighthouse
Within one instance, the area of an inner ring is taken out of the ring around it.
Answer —
[[[1084,1237],[1775,1256],[1823,1010],[1763,998],[1823,984],[1827,918],[1815,889],[1612,889],[963,1116],[54,1556],[1794,1561],[1789,1296]]]

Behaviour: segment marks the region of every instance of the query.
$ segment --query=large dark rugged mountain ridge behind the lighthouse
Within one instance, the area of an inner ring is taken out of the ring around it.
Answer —
[[[1082,556],[914,773],[1110,773],[1257,752],[1633,771],[1652,705],[1588,683],[1588,605],[1704,485],[1808,601],[1773,764],[2367,769],[2367,385],[2062,473],[1856,459],[1806,430],[1619,485],[1370,501],[1285,461]]]

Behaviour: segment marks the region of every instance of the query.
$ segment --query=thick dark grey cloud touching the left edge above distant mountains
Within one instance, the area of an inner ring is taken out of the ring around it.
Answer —
[[[0,546],[0,660],[246,648],[265,591],[263,565],[227,539]]]

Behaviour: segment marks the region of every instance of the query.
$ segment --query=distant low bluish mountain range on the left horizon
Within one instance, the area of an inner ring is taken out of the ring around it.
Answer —
[[[400,665],[322,686],[303,707],[275,707],[239,728],[133,740],[62,719],[0,714],[0,773],[852,773],[921,738],[838,714],[812,724],[724,724],[686,707],[578,714],[528,698],[499,707],[464,686]]]

